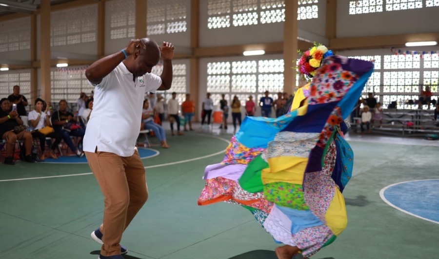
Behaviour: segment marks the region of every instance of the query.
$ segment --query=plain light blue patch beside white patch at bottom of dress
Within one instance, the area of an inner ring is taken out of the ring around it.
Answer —
[[[293,222],[291,226],[291,233],[296,234],[301,230],[304,230],[305,228],[310,227],[316,227],[323,225],[323,222],[320,221],[320,219],[311,211],[299,211],[294,210],[286,207],[281,207],[278,205],[275,205],[279,210],[288,216],[288,218]]]

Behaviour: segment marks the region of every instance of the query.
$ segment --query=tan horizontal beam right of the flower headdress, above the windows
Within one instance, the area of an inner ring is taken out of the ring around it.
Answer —
[[[407,42],[439,42],[439,32],[329,39],[332,50],[402,47]]]

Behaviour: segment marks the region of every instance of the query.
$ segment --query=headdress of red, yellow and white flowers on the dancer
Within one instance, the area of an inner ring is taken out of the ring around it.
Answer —
[[[328,50],[327,47],[320,43],[314,43],[314,47],[305,51],[305,53],[302,53],[300,50],[298,53],[302,56],[296,66],[296,70],[308,82],[316,75],[316,70],[320,67],[322,60],[334,55],[331,50]]]

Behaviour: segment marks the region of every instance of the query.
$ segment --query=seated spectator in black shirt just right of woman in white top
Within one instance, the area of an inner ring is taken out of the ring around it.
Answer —
[[[78,112],[76,112],[78,113]],[[70,150],[76,153],[77,156],[82,157],[83,152],[79,151],[73,144],[70,136],[80,137],[80,144],[84,138],[85,130],[78,125],[78,117],[67,111],[67,101],[60,101],[60,109],[52,115],[52,126],[55,132],[62,135],[65,144],[69,146]]]

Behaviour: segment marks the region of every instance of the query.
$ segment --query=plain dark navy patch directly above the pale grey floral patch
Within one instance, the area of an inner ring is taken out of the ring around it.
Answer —
[[[326,121],[337,103],[309,105],[306,114],[298,116],[281,131],[319,133],[325,127]]]

